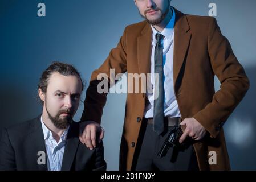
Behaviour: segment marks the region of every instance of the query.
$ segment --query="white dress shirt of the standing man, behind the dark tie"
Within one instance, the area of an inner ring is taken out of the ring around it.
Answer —
[[[164,35],[162,40],[163,45],[163,66],[164,66],[164,116],[165,117],[180,117],[180,110],[178,109],[177,100],[174,94],[173,82],[173,47],[174,47],[174,23],[175,11],[173,11],[172,19],[166,25],[162,32],[158,32],[152,25],[152,53],[151,53],[151,84],[152,89],[155,86],[155,46],[156,34]],[[154,89],[153,89],[154,90]],[[145,106],[144,117],[153,118],[154,114],[154,93],[147,92],[148,103]]]

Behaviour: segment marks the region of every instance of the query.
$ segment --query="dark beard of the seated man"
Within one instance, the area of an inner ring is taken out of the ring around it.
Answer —
[[[54,124],[54,126],[57,129],[63,130],[67,129],[68,126],[70,126],[70,123],[72,122],[72,111],[70,109],[62,109],[59,110],[59,112],[56,114],[55,117],[53,117],[48,109],[47,109],[47,104],[46,104],[46,111],[48,114],[49,119],[51,122]],[[60,118],[60,114],[66,113],[68,114],[66,117]]]

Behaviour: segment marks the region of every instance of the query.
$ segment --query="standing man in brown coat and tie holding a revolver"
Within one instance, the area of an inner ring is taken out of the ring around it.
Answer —
[[[100,73],[109,78],[110,69],[115,75],[155,73],[159,79],[151,76],[153,94],[128,93],[120,169],[230,169],[222,126],[245,96],[249,80],[229,41],[214,18],[183,14],[170,0],[134,1],[145,21],[127,26],[117,47],[92,73],[80,140],[92,149],[96,136],[98,142],[103,138],[107,94],[97,92]],[[216,93],[215,75],[221,82]],[[169,131],[178,124],[184,126],[178,138],[183,145],[159,158]]]

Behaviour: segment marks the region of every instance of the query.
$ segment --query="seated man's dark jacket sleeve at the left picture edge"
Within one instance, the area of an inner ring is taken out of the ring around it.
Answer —
[[[6,129],[1,131],[0,138],[0,171],[16,170],[15,154]]]

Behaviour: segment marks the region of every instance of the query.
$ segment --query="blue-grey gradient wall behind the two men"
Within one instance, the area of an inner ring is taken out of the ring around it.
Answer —
[[[46,17],[37,16],[40,2],[46,5]],[[217,4],[222,34],[251,82],[249,92],[224,125],[231,169],[255,170],[256,1],[173,0],[172,6],[186,14],[207,16],[211,2]],[[51,61],[74,64],[88,83],[91,72],[117,45],[125,26],[139,21],[132,0],[0,0],[0,129],[40,114],[36,85]],[[219,86],[216,80],[216,90]],[[125,99],[125,94],[109,94],[104,108],[108,170],[118,169]],[[81,102],[76,121],[82,111]]]

